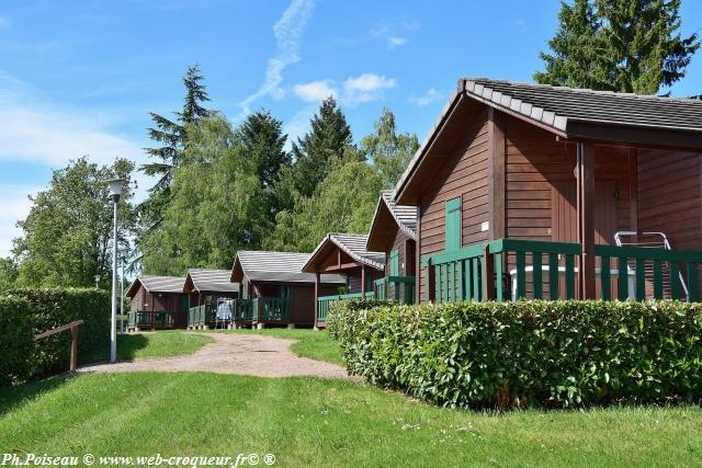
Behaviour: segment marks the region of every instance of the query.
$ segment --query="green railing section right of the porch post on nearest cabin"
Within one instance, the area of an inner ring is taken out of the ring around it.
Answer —
[[[653,296],[655,299],[687,299],[698,301],[698,266],[702,264],[702,252],[686,250],[666,250],[632,246],[596,246],[595,254],[602,264],[601,296],[612,297],[611,265],[616,261],[616,293],[620,298],[631,296],[627,278],[634,275],[634,297],[636,300]],[[646,289],[652,294],[647,295]]]

